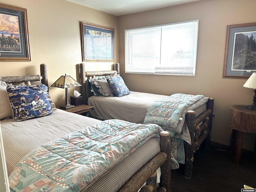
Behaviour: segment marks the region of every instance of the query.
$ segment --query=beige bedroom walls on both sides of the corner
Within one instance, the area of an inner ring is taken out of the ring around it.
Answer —
[[[83,21],[115,29],[115,62],[120,62],[121,75],[130,90],[213,97],[212,141],[229,144],[230,106],[252,103],[253,90],[242,87],[246,80],[222,78],[222,71],[227,25],[256,22],[255,0],[200,0],[120,17],[66,0],[1,0],[1,3],[27,9],[31,61],[0,62],[0,76],[38,74],[39,65],[45,63],[49,85],[65,73],[79,80],[80,21]],[[196,76],[124,73],[124,29],[196,19],[199,19]],[[109,70],[115,62],[86,62],[86,67]],[[70,96],[73,90],[69,90]],[[64,104],[64,90],[50,87],[50,94],[57,106]],[[254,135],[246,134],[245,140],[244,148],[252,150]]]

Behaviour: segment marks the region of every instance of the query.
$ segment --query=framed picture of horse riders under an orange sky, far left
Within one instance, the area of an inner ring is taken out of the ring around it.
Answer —
[[[0,61],[31,61],[25,8],[0,3]]]

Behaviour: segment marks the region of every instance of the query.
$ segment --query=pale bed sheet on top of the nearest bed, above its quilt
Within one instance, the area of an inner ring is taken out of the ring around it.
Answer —
[[[30,151],[97,122],[100,120],[60,109],[55,110],[51,115],[35,119],[20,122],[12,119],[0,121],[8,175]]]

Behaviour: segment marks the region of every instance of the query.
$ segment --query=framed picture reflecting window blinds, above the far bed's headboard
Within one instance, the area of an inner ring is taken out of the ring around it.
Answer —
[[[82,61],[114,62],[114,29],[81,22]]]

